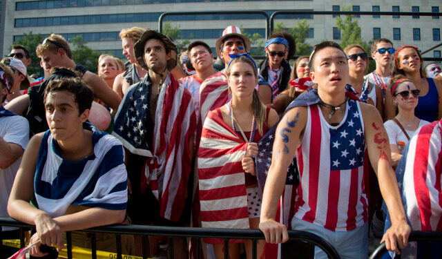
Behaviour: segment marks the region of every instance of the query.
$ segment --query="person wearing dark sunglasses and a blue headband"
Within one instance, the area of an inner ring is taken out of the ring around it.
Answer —
[[[260,87],[259,93],[262,102],[271,104],[289,83],[290,64],[284,57],[289,48],[289,41],[279,34],[273,34],[265,43],[267,59],[260,65],[260,75],[270,84],[270,87]]]

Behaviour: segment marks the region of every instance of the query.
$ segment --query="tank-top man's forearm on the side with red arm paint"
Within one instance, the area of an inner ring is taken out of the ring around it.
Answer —
[[[387,160],[379,160],[378,182],[382,197],[385,200],[385,204],[387,204],[390,217],[392,218],[392,224],[406,221],[396,175]]]

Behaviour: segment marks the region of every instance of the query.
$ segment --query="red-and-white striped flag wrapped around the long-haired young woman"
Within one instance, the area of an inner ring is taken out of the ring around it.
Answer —
[[[247,142],[216,111],[209,112],[198,149],[202,227],[248,229],[249,213],[242,157]],[[222,240],[206,240],[222,243]]]

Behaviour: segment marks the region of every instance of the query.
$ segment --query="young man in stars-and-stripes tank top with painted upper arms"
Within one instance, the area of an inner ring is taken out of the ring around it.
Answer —
[[[338,44],[318,44],[310,57],[310,76],[318,90],[305,94],[305,106],[287,108],[276,129],[273,158],[263,193],[260,229],[271,243],[288,240],[287,228],[274,220],[287,167],[296,155],[300,171],[291,227],[325,238],[341,258],[367,258],[367,197],[364,151],[378,176],[385,203],[394,215],[383,236],[387,249],[407,245],[405,219],[390,147],[381,116],[371,105],[347,99],[348,64]],[[326,258],[315,251],[316,258]]]

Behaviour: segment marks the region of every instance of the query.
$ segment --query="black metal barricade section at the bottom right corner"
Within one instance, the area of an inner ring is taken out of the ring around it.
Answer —
[[[425,255],[421,258],[430,258],[430,244],[434,241],[442,241],[442,232],[412,231],[412,233],[410,233],[410,237],[408,238],[408,242],[410,243],[413,241],[425,242]],[[384,242],[374,250],[372,256],[370,256],[370,259],[380,259],[386,252],[387,249],[385,248]]]

